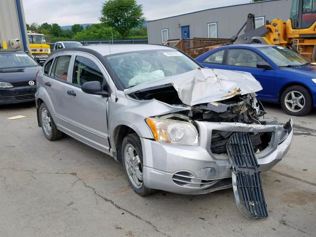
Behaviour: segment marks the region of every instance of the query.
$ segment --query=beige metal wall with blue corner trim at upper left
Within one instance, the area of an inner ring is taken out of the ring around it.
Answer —
[[[25,17],[22,0],[20,0],[23,13],[23,24],[26,29]],[[22,35],[25,35],[28,44],[27,32],[20,31],[19,17],[15,0],[0,0],[0,42],[18,38],[21,40],[23,49]]]

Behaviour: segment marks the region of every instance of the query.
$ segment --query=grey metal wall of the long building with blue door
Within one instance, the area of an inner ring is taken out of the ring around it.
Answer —
[[[211,1],[210,1],[211,2]],[[233,2],[233,1],[232,1]],[[217,22],[217,38],[231,38],[237,34],[248,13],[264,16],[265,20],[287,20],[292,0],[271,0],[250,4],[209,9],[147,23],[149,43],[161,44],[161,30],[168,29],[169,40],[181,38],[181,27],[190,26],[190,38],[207,38],[207,24]],[[210,3],[211,7],[211,3]]]

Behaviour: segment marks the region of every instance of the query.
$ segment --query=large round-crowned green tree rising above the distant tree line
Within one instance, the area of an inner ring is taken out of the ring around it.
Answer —
[[[100,21],[125,39],[133,28],[144,23],[143,15],[143,6],[136,0],[108,0],[103,3]]]

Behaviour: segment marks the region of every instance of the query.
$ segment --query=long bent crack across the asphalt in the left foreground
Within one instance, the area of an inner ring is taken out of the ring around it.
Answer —
[[[71,172],[71,173],[70,173],[70,172],[55,172],[55,173],[52,173],[52,172],[35,172],[35,171],[33,171],[33,170],[16,169],[16,168],[13,168],[13,167],[6,168],[6,169],[11,169],[11,170],[15,170],[15,171],[31,172],[31,173],[33,173],[33,174],[69,174],[69,175],[75,176],[75,177],[77,177],[77,180],[72,184],[72,187],[74,186],[74,184],[75,184],[77,181],[81,181],[81,182],[83,183],[83,185],[84,185],[86,188],[91,189],[91,190],[94,192],[94,194],[95,194],[96,196],[102,198],[102,199],[103,199],[104,201],[106,201],[106,202],[110,202],[110,203],[111,203],[113,206],[115,206],[118,210],[125,211],[125,212],[127,212],[128,214],[130,214],[131,216],[133,216],[133,217],[135,217],[135,218],[137,218],[137,219],[139,219],[139,220],[141,220],[141,221],[146,222],[148,225],[152,226],[153,229],[154,229],[156,232],[158,232],[158,233],[160,233],[160,234],[162,234],[162,235],[164,235],[164,236],[171,237],[171,236],[169,236],[169,235],[167,235],[167,234],[165,234],[165,233],[159,231],[158,228],[157,228],[157,226],[155,226],[151,221],[148,221],[148,220],[145,220],[145,219],[141,218],[140,216],[138,216],[138,215],[134,214],[133,212],[131,212],[131,211],[125,209],[124,207],[119,206],[119,205],[118,205],[117,203],[115,203],[113,200],[111,200],[111,199],[109,199],[109,198],[106,198],[106,197],[103,197],[101,194],[98,194],[98,193],[96,192],[95,188],[93,188],[92,186],[87,185],[87,184],[83,181],[83,179],[82,179],[82,178],[79,178],[78,174],[75,173],[75,172]],[[2,168],[2,170],[3,170],[3,168]]]

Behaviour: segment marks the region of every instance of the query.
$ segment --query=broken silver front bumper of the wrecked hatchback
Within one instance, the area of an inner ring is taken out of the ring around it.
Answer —
[[[259,171],[271,169],[288,152],[293,139],[292,122],[286,139],[280,143],[282,125],[197,122],[199,146],[160,143],[141,138],[144,157],[144,184],[148,188],[180,194],[206,194],[232,187],[232,166],[227,154],[211,152],[212,130],[234,132],[272,132],[270,145],[256,153]],[[230,182],[222,182],[230,179]],[[182,182],[178,182],[182,180]],[[219,185],[222,183],[222,185]]]

